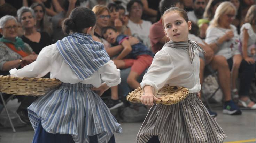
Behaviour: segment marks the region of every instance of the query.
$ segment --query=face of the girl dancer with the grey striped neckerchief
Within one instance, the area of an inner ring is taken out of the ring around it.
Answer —
[[[169,12],[163,17],[165,35],[174,42],[187,42],[191,22],[188,23],[178,12]]]

